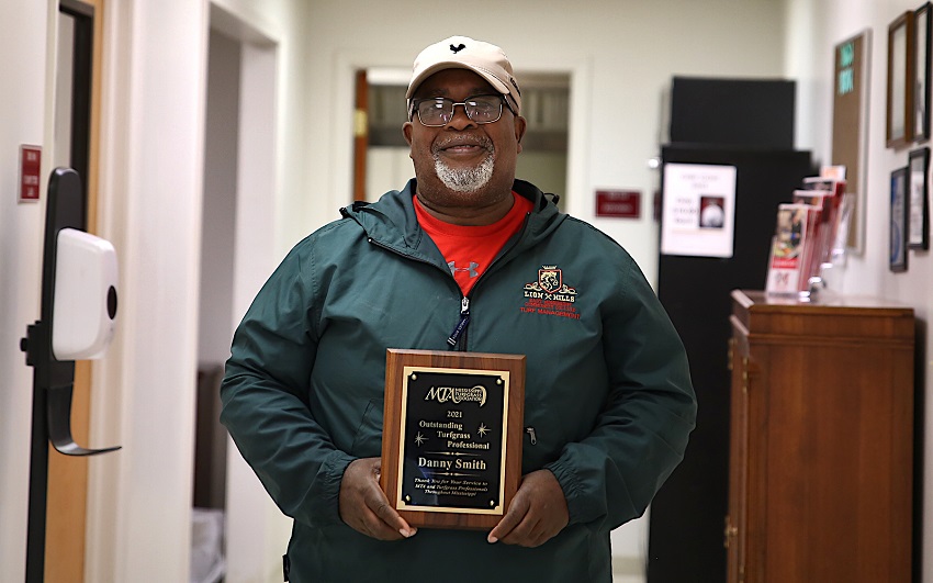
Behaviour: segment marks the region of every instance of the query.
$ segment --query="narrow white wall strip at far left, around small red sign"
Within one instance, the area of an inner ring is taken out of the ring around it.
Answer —
[[[8,7],[0,19],[0,581],[25,572],[33,384],[20,338],[40,317],[45,183],[40,203],[18,204],[16,195],[21,144],[43,146],[43,176],[50,170],[48,4]]]

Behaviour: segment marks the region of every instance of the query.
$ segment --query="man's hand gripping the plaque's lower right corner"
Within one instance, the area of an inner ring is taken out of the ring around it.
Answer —
[[[550,470],[538,470],[521,479],[508,512],[486,540],[506,545],[538,547],[570,522],[561,484]]]

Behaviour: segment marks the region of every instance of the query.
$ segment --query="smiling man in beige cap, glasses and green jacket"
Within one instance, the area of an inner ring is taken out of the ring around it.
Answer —
[[[512,65],[456,36],[408,86],[415,179],[299,243],[234,337],[222,419],[294,518],[291,581],[610,581],[609,531],[681,461],[686,356],[631,257],[515,179]],[[488,532],[379,486],[386,348],[527,356],[522,481]]]

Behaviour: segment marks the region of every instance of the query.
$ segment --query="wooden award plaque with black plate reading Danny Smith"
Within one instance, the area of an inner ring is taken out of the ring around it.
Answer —
[[[521,479],[525,356],[390,348],[380,482],[409,525],[490,529]]]

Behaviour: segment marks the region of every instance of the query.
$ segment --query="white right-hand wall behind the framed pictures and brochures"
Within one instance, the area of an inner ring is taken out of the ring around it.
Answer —
[[[922,374],[923,399],[918,405],[925,407],[920,414],[926,422],[922,435],[915,436],[915,444],[924,452],[922,468],[918,470],[923,471],[922,507],[929,509],[933,508],[933,429],[930,423],[933,419],[933,347],[929,326],[933,314],[933,262],[930,251],[909,251],[906,273],[888,270],[888,184],[890,172],[907,166],[910,148],[885,147],[888,24],[906,10],[919,8],[920,3],[909,0],[790,0],[787,70],[806,80],[801,91],[807,99],[798,101],[802,122],[797,131],[798,144],[812,148],[818,159],[828,162],[831,160],[833,48],[866,29],[872,31],[865,209],[868,220],[864,254],[850,256],[846,267],[832,274],[830,284],[843,293],[878,295],[912,306],[922,321],[917,341],[921,347],[918,370]],[[933,582],[933,520],[924,520],[922,532],[914,536],[923,540],[922,581]]]

